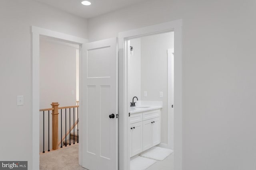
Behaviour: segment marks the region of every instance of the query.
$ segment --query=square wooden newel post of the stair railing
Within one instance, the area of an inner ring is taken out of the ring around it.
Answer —
[[[59,103],[58,102],[52,102],[52,150],[57,150],[58,149],[58,107]]]

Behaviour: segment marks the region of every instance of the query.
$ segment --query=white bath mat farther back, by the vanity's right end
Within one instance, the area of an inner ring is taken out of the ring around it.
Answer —
[[[140,154],[140,156],[151,158],[155,160],[164,160],[167,156],[172,154],[173,150],[160,148],[160,147],[152,147],[148,151]]]

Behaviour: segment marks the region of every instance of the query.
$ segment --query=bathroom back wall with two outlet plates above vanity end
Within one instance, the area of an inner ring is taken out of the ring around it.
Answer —
[[[174,48],[174,33],[162,33],[141,38],[141,100],[161,101],[161,143],[168,139],[168,55]],[[147,96],[144,97],[144,91]],[[160,98],[159,92],[163,92]]]

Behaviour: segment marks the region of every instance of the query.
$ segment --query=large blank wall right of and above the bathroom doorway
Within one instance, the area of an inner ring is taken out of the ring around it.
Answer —
[[[95,41],[182,19],[183,170],[256,169],[255,9],[255,0],[147,0],[88,20]]]

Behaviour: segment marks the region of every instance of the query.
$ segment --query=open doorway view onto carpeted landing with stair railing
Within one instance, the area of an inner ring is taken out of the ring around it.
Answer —
[[[79,45],[40,36],[40,169],[78,166],[78,94]]]

